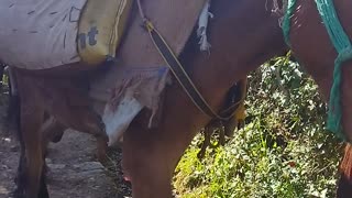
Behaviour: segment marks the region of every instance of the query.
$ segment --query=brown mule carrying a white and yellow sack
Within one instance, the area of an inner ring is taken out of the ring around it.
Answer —
[[[352,25],[349,25],[352,2],[348,0],[334,2],[345,31],[352,35]],[[297,4],[292,18],[292,47],[328,100],[337,53],[321,23],[315,2],[298,0]],[[266,59],[287,51],[278,25],[278,16],[272,13],[272,0],[213,1],[215,19],[209,34],[212,44],[210,56],[200,53],[197,44],[191,41],[180,56],[191,79],[213,109],[220,108],[234,81],[243,79]],[[350,64],[346,63],[343,73],[342,106],[343,129],[351,140]],[[62,82],[70,78],[62,77],[53,81],[44,76],[21,72],[16,75],[21,95],[21,129],[25,145],[24,191],[26,197],[36,198],[40,189],[43,189],[41,184],[45,185],[41,183],[43,160],[42,148],[38,146],[42,140],[40,129],[44,111],[62,119],[61,122],[67,127],[79,128],[97,135],[101,135],[102,130],[99,119],[89,111],[89,102],[87,106],[73,106],[75,107],[73,109],[65,107],[78,101],[75,97],[72,98],[77,96],[76,91],[65,92],[66,89],[69,90],[68,87],[74,87],[74,84],[62,87]],[[62,96],[65,94],[72,95],[66,95],[65,98]],[[57,97],[58,103],[64,99],[66,103],[50,105],[45,102],[47,97]],[[81,97],[79,100],[86,101]],[[86,116],[77,120],[84,114]],[[210,118],[194,106],[178,84],[173,84],[166,90],[164,117],[157,129],[145,129],[142,118],[139,117],[131,124],[124,134],[123,143],[123,167],[131,179],[133,197],[172,197],[170,182],[177,162],[197,131]]]

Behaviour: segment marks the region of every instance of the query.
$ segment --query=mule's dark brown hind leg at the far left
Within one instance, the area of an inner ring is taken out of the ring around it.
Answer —
[[[44,118],[44,108],[36,81],[20,72],[16,75],[20,98],[20,138],[23,152],[19,186],[23,187],[26,198],[48,197],[43,175],[43,152],[41,125]],[[21,177],[22,176],[22,177]]]

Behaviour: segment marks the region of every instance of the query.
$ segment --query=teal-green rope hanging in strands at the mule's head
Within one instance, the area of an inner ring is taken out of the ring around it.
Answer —
[[[274,0],[276,1],[276,0]],[[289,44],[290,18],[295,10],[296,0],[288,0],[287,10],[283,21],[283,32],[287,45]],[[352,45],[349,36],[345,34],[332,0],[316,0],[316,4],[322,22],[327,29],[329,37],[338,52],[334,61],[333,81],[330,90],[328,127],[337,136],[345,140],[342,129],[342,107],[341,107],[341,82],[343,63],[352,59]]]

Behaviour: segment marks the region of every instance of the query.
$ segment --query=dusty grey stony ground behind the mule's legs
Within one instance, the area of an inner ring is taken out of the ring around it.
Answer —
[[[6,130],[7,96],[0,94],[0,198],[14,189],[20,148],[14,134]],[[51,144],[46,160],[48,191],[52,198],[124,198],[131,197],[119,166],[121,152],[110,153],[111,163],[97,162],[95,140],[85,133],[66,131],[63,140]]]

